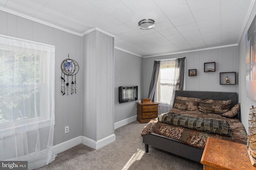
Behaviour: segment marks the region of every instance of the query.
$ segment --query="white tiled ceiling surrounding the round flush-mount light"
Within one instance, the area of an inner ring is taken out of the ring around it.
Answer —
[[[0,10],[83,36],[92,28],[138,56],[239,43],[255,0],[0,0]],[[155,27],[138,28],[150,18]]]

